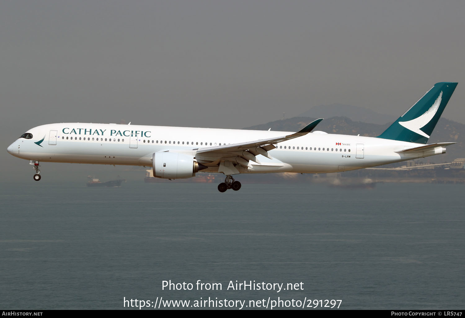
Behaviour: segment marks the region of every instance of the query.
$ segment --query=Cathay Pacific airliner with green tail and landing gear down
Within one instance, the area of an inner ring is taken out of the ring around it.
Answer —
[[[153,176],[184,179],[224,173],[219,192],[241,188],[240,173],[343,172],[445,153],[455,142],[427,144],[458,83],[435,84],[377,137],[238,129],[58,123],[34,127],[7,151],[29,160],[39,181],[40,162],[151,166]]]

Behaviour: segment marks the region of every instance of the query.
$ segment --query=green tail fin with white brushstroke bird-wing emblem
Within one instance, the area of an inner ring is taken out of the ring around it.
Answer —
[[[434,84],[378,138],[426,144],[457,84],[453,82]]]

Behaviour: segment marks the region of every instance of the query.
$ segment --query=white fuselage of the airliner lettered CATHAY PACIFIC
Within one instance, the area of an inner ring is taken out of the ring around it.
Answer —
[[[8,147],[12,155],[43,162],[68,162],[104,165],[152,166],[154,152],[192,154],[212,146],[279,137],[286,132],[137,126],[116,124],[60,123],[30,129],[31,139],[20,138]],[[40,142],[40,140],[42,140]],[[239,167],[239,172],[338,172],[379,166],[392,162],[431,156],[433,150],[399,153],[422,144],[375,137],[308,133],[279,142],[268,151],[272,159],[257,156],[261,164]],[[208,166],[208,164],[207,164]],[[204,172],[218,172],[218,165]]]

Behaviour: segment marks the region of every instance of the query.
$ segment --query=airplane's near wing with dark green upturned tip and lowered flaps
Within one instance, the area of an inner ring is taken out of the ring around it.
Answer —
[[[259,159],[256,158],[256,156],[261,154],[262,156],[265,156],[269,159],[273,159],[268,154],[268,151],[275,149],[275,144],[297,137],[301,137],[306,135],[307,133],[310,133],[313,130],[313,128],[315,128],[319,124],[321,120],[323,119],[320,118],[314,120],[301,130],[299,130],[297,133],[292,133],[286,136],[259,139],[232,145],[199,148],[196,152],[195,158],[206,166],[218,166],[220,162],[224,161],[231,161],[233,165],[239,164],[240,166],[243,166],[246,169],[252,168],[252,165],[249,161],[253,161],[259,165],[262,165]],[[272,164],[272,166],[275,165],[276,163]],[[239,171],[236,173],[239,173]]]

